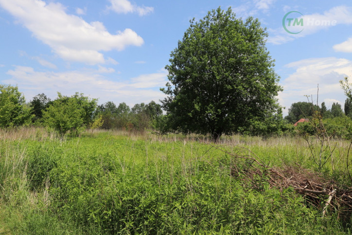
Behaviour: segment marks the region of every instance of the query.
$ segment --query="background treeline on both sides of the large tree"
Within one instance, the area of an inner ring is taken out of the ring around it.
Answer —
[[[98,105],[97,101],[78,92],[71,96],[58,92],[55,100],[41,93],[26,103],[18,87],[0,85],[0,127],[43,126],[61,135],[77,135],[88,128],[141,132],[150,129],[158,133],[175,131],[170,124],[173,121],[172,116],[163,115],[162,106],[154,101],[136,104],[132,108],[124,102],[116,105],[109,101]],[[239,128],[235,133],[272,136],[304,132],[315,135],[309,122],[293,126],[301,118],[312,119],[315,112],[323,118],[331,136],[344,138],[352,133],[352,102],[349,98],[345,102],[344,110],[338,103],[333,103],[330,109],[326,108],[324,102],[320,107],[309,102],[293,103],[286,117],[282,118],[279,113],[264,121],[249,120],[250,125]]]

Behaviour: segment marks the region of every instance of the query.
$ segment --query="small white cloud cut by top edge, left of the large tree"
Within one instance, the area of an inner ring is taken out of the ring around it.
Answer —
[[[109,0],[111,3],[111,6],[108,7],[108,9],[111,9],[115,11],[116,13],[138,13],[140,16],[147,15],[149,13],[152,13],[154,11],[153,7],[150,6],[138,6],[136,4],[132,4],[128,0]]]

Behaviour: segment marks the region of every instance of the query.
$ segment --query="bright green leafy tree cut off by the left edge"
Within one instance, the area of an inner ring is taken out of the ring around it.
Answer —
[[[29,125],[33,118],[31,112],[17,86],[0,85],[0,127]]]

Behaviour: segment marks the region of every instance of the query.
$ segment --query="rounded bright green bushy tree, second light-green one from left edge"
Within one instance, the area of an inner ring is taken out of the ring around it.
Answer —
[[[70,97],[57,94],[58,98],[43,111],[44,123],[61,135],[68,131],[78,134],[89,127],[93,122],[97,100],[79,93]]]

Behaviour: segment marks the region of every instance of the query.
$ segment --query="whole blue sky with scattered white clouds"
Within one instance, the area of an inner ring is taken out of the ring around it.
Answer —
[[[0,0],[0,84],[17,85],[27,102],[57,92],[99,104],[158,102],[190,20],[219,6],[266,28],[284,116],[305,95],[343,107],[339,80],[352,77],[350,0]]]

